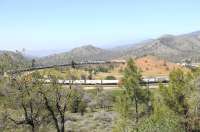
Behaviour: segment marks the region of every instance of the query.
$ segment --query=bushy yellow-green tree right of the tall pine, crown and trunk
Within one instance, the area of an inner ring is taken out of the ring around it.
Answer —
[[[182,123],[186,132],[192,131],[189,122],[190,104],[188,103],[193,89],[192,78],[191,74],[175,69],[170,73],[169,86],[160,86],[165,104],[183,118]]]

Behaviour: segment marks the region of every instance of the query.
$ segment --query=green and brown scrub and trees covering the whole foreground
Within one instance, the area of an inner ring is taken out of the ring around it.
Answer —
[[[149,89],[140,85],[141,70],[130,59],[119,90],[103,90],[103,86],[84,90],[81,85],[67,88],[57,83],[59,79],[81,79],[83,75],[90,76],[90,70],[54,69],[1,75],[0,131],[200,131],[199,69],[174,69],[168,85]],[[50,83],[44,83],[44,78]]]

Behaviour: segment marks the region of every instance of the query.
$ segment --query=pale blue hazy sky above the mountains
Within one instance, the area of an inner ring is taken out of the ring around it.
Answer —
[[[200,30],[200,0],[0,0],[1,49],[129,44]]]

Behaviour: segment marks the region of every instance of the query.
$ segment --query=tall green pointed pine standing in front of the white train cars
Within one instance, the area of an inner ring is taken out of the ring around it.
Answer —
[[[124,77],[122,79],[124,94],[119,98],[119,103],[121,102],[119,107],[122,108],[118,108],[118,112],[124,119],[127,119],[128,111],[131,109],[132,105],[134,105],[135,112],[132,112],[132,115],[135,118],[135,124],[132,126],[134,126],[133,128],[136,131],[138,131],[139,118],[142,117],[139,111],[139,104],[147,103],[148,101],[148,92],[142,89],[140,85],[141,79],[142,75],[140,69],[138,69],[134,61],[130,59],[124,70]],[[126,105],[126,107],[123,105]],[[128,117],[130,118],[131,116]]]

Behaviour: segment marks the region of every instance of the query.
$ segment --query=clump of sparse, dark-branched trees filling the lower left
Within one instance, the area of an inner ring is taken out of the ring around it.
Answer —
[[[5,101],[1,100],[0,106],[5,110],[0,109],[0,129],[14,127],[36,132],[53,125],[57,132],[64,132],[67,111],[84,114],[87,106],[83,91],[63,87],[55,76],[49,79],[44,84],[43,76],[34,72],[3,81],[5,86],[0,85],[0,97]]]

